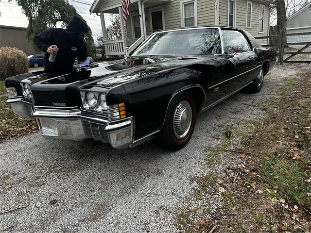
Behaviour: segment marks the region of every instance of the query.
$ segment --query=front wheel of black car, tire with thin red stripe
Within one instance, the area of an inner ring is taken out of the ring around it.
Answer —
[[[169,150],[179,150],[189,142],[196,120],[194,99],[188,92],[177,94],[170,103],[162,129],[163,145]]]

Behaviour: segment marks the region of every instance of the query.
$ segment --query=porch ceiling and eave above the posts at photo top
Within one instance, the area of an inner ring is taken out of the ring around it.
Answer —
[[[131,0],[132,4],[138,9],[139,0]],[[141,0],[144,2],[145,7],[155,6],[158,4],[163,4],[171,0]],[[111,4],[114,3],[114,4]],[[129,11],[135,11],[134,7],[130,4]],[[110,13],[110,14],[119,14],[118,7],[121,6],[121,0],[94,0],[91,8],[89,9],[90,13]]]

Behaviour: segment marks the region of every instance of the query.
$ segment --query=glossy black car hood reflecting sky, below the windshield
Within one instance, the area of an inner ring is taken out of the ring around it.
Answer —
[[[172,57],[130,57],[113,62],[99,62],[90,67],[79,67],[75,72],[48,78],[42,74],[32,78],[32,83],[46,85],[69,85],[76,87],[82,85],[99,85],[112,88],[116,85],[130,82],[145,75],[155,72],[162,72],[177,67],[185,67],[199,63],[206,63],[215,59],[214,55],[202,56],[172,56]],[[39,82],[38,82],[39,81]],[[41,82],[40,82],[41,81]],[[37,86],[38,87],[38,86]]]

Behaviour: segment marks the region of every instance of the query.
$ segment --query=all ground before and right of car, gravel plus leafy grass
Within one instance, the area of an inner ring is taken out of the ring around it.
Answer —
[[[259,93],[200,114],[175,152],[31,129],[3,141],[0,232],[308,232],[310,71],[275,67]]]

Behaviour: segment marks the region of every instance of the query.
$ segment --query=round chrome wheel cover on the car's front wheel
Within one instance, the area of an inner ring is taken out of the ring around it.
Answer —
[[[181,101],[173,116],[173,131],[178,139],[187,136],[192,123],[192,108],[187,100]]]

